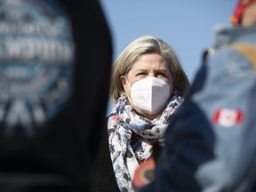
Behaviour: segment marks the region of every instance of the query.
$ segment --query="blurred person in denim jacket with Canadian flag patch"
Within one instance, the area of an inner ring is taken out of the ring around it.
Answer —
[[[232,22],[217,28],[141,191],[255,191],[256,1],[239,1]]]

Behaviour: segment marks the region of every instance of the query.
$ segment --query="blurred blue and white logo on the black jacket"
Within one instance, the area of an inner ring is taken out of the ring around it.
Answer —
[[[0,124],[33,135],[70,97],[74,44],[67,15],[45,1],[0,0]]]

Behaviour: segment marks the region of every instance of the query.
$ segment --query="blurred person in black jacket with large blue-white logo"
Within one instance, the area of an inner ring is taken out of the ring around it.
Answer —
[[[1,192],[89,190],[112,43],[100,3],[84,5],[0,1]]]

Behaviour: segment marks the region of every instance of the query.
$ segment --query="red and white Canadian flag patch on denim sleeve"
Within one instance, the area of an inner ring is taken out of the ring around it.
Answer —
[[[213,116],[213,123],[220,124],[223,127],[231,127],[236,124],[242,124],[244,112],[240,109],[219,108]]]

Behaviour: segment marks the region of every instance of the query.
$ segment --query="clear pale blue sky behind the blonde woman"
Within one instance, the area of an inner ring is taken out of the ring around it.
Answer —
[[[100,0],[110,28],[113,61],[139,36],[153,35],[170,44],[193,81],[202,52],[211,47],[213,28],[230,25],[237,0]],[[107,115],[114,108],[109,102]]]

